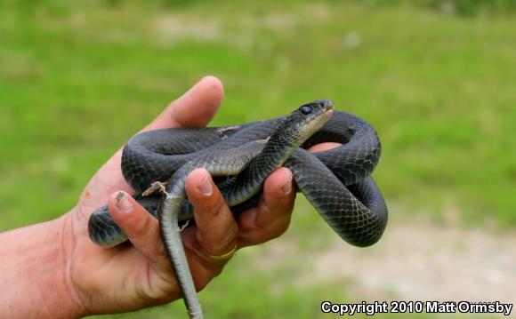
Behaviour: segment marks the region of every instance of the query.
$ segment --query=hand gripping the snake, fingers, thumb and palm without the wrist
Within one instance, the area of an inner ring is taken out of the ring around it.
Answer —
[[[173,101],[143,131],[167,127],[205,126],[223,97],[220,81],[205,77]],[[98,171],[77,206],[62,220],[62,251],[67,255],[69,286],[73,287],[81,315],[131,311],[179,299],[181,293],[154,219],[128,194],[120,170],[121,149]],[[258,207],[235,220],[207,171],[190,173],[187,194],[195,209],[196,226],[185,229],[182,240],[198,290],[219,275],[221,256],[234,247],[266,242],[283,234],[290,222],[295,191],[286,168],[270,174]],[[117,201],[117,194],[125,192]],[[109,211],[129,237],[130,244],[106,249],[92,243],[87,234],[90,214],[109,203]]]

